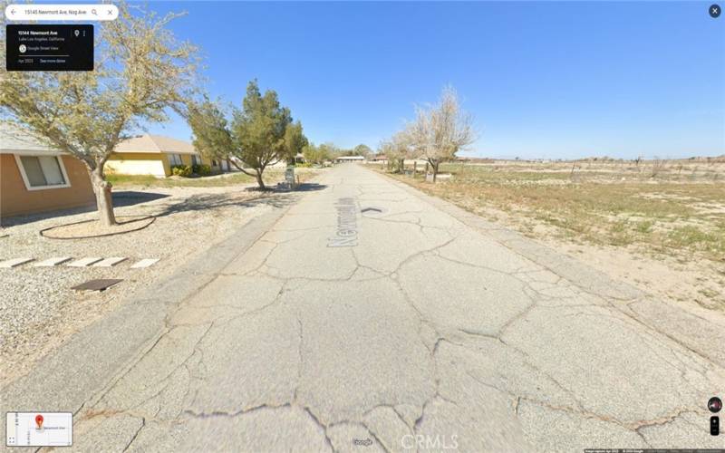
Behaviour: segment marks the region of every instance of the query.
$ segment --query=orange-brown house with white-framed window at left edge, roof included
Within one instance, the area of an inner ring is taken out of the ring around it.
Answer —
[[[95,202],[82,161],[24,132],[0,127],[0,218]]]

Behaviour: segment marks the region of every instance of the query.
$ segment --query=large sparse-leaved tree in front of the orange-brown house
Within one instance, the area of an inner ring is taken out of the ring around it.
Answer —
[[[106,160],[143,124],[182,110],[198,63],[196,48],[167,28],[180,14],[131,14],[117,5],[117,20],[95,25],[94,71],[5,72],[0,80],[2,120],[85,164],[104,226],[116,224]]]

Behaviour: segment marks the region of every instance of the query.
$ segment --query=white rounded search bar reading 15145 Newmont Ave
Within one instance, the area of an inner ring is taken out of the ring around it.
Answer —
[[[113,21],[119,16],[116,5],[7,5],[9,21]]]

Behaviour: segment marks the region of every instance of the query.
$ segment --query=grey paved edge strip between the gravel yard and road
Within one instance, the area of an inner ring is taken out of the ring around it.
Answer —
[[[111,313],[73,333],[40,359],[34,371],[0,389],[3,419],[8,411],[77,414],[159,340],[176,306],[217,278],[303,196],[304,192],[281,194],[276,200],[280,203],[270,203],[268,212],[253,217],[153,288],[130,296]]]

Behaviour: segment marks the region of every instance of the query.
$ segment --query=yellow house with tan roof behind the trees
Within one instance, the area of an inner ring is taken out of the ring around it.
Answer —
[[[208,165],[212,171],[228,170],[228,162],[208,159],[198,153],[188,141],[161,135],[140,135],[123,140],[106,161],[109,172],[122,175],[171,176],[176,165]]]

